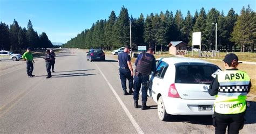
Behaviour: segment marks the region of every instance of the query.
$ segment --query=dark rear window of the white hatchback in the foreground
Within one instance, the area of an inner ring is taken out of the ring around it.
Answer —
[[[205,64],[177,65],[175,83],[210,84],[217,69],[218,66]]]

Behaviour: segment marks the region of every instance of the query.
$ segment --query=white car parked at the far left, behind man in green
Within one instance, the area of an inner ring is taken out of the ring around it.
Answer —
[[[13,60],[13,61],[19,61],[22,59],[21,54],[12,53],[10,51],[0,51],[0,60]]]

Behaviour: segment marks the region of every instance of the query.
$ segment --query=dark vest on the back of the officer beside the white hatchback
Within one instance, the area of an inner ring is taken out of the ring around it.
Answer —
[[[146,53],[142,53],[142,58],[138,61],[136,66],[136,70],[144,75],[151,74],[151,67],[152,67],[153,58],[147,57]]]

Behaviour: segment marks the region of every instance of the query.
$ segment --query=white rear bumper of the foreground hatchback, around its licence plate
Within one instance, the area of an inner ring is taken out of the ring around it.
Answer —
[[[167,114],[171,115],[213,115],[214,100],[185,100],[181,98],[164,97]],[[212,111],[199,111],[198,105],[211,105]]]

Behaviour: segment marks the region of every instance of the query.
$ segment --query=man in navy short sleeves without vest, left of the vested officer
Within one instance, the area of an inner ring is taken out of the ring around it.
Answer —
[[[133,94],[133,69],[131,64],[130,46],[125,46],[124,52],[118,54],[119,75],[124,95]],[[126,79],[129,81],[129,93],[126,91]]]

